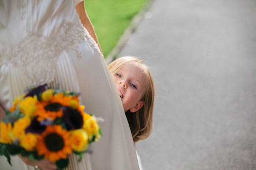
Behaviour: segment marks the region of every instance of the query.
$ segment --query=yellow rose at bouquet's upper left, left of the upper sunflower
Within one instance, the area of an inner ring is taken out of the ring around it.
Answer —
[[[37,107],[36,107],[37,101],[38,101],[37,96],[34,96],[34,97],[28,96],[19,103],[19,110],[24,115],[29,115],[31,118],[33,118],[34,113],[37,111]]]

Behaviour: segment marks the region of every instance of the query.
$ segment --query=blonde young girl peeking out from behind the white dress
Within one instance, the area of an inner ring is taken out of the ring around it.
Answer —
[[[146,139],[152,129],[154,81],[148,67],[135,57],[121,57],[108,65],[123,103],[133,141]]]

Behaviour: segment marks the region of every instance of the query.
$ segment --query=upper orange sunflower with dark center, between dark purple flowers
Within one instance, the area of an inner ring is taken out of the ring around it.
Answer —
[[[48,103],[48,102],[40,102],[36,105],[37,111],[35,113],[38,116],[38,121],[48,119],[56,119],[61,118],[63,112],[61,110],[62,105],[60,103]]]

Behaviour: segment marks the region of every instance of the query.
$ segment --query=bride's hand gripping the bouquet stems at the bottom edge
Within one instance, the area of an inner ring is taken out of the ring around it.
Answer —
[[[38,161],[38,160],[31,161],[30,159],[28,159],[26,157],[22,157],[20,155],[19,155],[19,157],[27,165],[38,166],[40,168],[40,170],[56,170],[57,169],[57,166],[55,165],[55,163],[51,162],[49,159],[42,159],[40,161]]]

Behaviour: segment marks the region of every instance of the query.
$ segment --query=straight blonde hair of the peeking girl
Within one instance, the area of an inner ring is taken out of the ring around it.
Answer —
[[[125,64],[138,64],[147,77],[146,89],[141,97],[143,107],[135,113],[126,111],[125,115],[128,120],[132,138],[134,142],[146,139],[152,131],[153,109],[154,109],[154,80],[148,67],[136,57],[120,57],[108,65],[110,73],[115,74]]]

